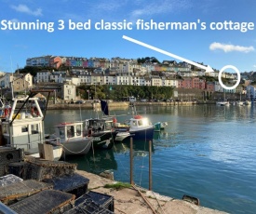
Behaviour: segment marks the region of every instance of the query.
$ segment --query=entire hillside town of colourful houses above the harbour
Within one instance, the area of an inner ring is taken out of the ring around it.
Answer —
[[[9,88],[19,94],[35,87],[51,86],[61,100],[76,100],[76,87],[120,85],[197,89],[209,93],[242,94],[247,99],[256,99],[256,87],[253,86],[256,73],[242,73],[239,86],[227,90],[222,88],[218,81],[219,71],[205,73],[204,70],[184,61],[159,62],[149,57],[136,60],[116,57],[109,60],[47,55],[28,58],[25,67],[42,69],[34,75],[21,73],[22,70],[19,69],[14,74],[2,72],[2,94],[3,91],[9,92]],[[234,86],[236,80],[237,74],[222,73],[225,86]]]

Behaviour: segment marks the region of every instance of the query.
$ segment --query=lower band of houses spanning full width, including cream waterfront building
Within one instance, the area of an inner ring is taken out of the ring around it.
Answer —
[[[177,76],[176,76],[177,77]],[[152,72],[151,75],[136,74],[95,74],[42,71],[33,77],[31,74],[2,74],[0,76],[1,88],[13,88],[14,92],[28,91],[37,85],[44,85],[56,89],[64,100],[75,100],[76,87],[80,85],[129,85],[129,86],[156,86],[156,87],[178,87],[196,88],[207,91],[218,91],[226,93],[248,94],[249,98],[256,99],[256,87],[249,84],[239,85],[235,89],[223,89],[218,81],[206,81],[206,78],[183,77],[176,78],[167,73]],[[233,80],[236,82],[236,80]],[[231,81],[232,82],[232,81]],[[235,83],[234,83],[235,84]],[[230,86],[233,86],[231,84]],[[58,85],[58,87],[56,87]],[[53,86],[53,87],[50,87]]]

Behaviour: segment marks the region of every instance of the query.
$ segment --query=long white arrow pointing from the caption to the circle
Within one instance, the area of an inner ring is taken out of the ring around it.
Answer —
[[[128,40],[130,42],[136,43],[136,44],[138,44],[138,45],[140,45],[142,47],[148,47],[148,48],[153,49],[153,50],[155,50],[155,51],[157,51],[159,53],[165,54],[165,55],[167,55],[167,56],[169,56],[171,58],[175,58],[177,60],[182,60],[182,61],[185,61],[185,62],[187,62],[189,64],[195,65],[197,68],[201,68],[203,70],[206,70],[206,72],[208,72],[208,73],[214,72],[209,65],[208,66],[204,66],[204,65],[196,63],[195,61],[186,60],[186,59],[184,59],[182,57],[179,57],[179,56],[177,56],[175,54],[169,53],[168,51],[165,51],[165,50],[162,50],[160,48],[153,47],[153,46],[150,46],[148,44],[142,43],[142,42],[140,42],[140,41],[138,41],[136,39],[130,38],[130,37],[126,36],[126,35],[123,35],[123,39],[126,39],[126,40]]]

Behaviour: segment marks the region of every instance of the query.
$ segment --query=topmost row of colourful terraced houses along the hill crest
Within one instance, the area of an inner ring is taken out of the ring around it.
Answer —
[[[26,66],[37,67],[51,67],[59,70],[61,66],[68,67],[69,70],[77,69],[82,70],[84,68],[93,68],[95,73],[105,72],[110,70],[120,74],[131,74],[134,71],[138,71],[141,74],[148,74],[152,71],[156,72],[173,72],[181,76],[201,76],[204,75],[204,71],[196,68],[193,65],[188,64],[185,61],[177,62],[176,60],[163,60],[162,63],[151,62],[151,60],[145,60],[143,63],[138,63],[136,59],[123,59],[115,57],[112,59],[105,58],[77,58],[77,57],[63,57],[63,56],[41,56],[35,58],[28,58],[26,60]],[[218,72],[211,73],[209,75],[216,76]],[[226,78],[235,78],[233,74],[227,75]]]

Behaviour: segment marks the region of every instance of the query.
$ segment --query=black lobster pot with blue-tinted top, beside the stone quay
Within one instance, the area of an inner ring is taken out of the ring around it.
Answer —
[[[54,190],[75,194],[76,197],[79,197],[87,193],[89,180],[84,176],[74,173],[73,175],[45,180],[44,182],[52,184]]]

